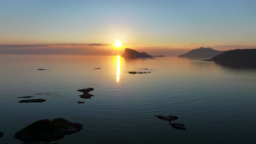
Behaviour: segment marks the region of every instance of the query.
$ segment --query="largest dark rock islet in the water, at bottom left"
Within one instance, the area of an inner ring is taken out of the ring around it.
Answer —
[[[63,138],[65,135],[77,133],[83,129],[83,124],[72,123],[63,118],[53,121],[42,119],[36,121],[15,134],[15,139],[25,143],[50,142]]]

